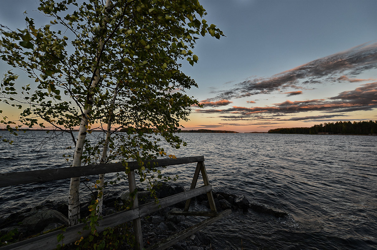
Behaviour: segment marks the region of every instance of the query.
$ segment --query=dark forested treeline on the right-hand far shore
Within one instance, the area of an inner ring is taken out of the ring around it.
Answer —
[[[376,134],[377,120],[362,122],[329,122],[302,128],[275,128],[269,134]]]

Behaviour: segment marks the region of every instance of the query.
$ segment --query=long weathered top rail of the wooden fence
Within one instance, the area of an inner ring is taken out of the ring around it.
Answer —
[[[204,156],[180,157],[177,159],[157,159],[144,162],[144,166],[171,166],[185,163],[204,161]],[[135,170],[139,168],[138,162],[128,162],[128,168]],[[68,168],[52,168],[23,172],[0,173],[0,187],[14,186],[40,181],[61,180],[72,177],[87,175],[107,174],[123,172],[125,167],[122,163],[106,163]]]

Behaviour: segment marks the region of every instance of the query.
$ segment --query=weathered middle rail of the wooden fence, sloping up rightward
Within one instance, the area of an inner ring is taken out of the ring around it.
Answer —
[[[136,218],[140,218],[149,213],[153,213],[155,211],[158,211],[159,209],[171,206],[180,201],[187,200],[188,198],[205,194],[210,190],[212,190],[211,185],[197,187],[196,189],[192,189],[192,190],[185,191],[176,195],[172,195],[170,197],[160,199],[158,204],[156,204],[155,202],[150,202],[150,203],[146,203],[144,205],[139,206],[138,209],[137,208],[131,209],[131,210],[122,211],[122,212],[113,213],[111,215],[104,216],[103,220],[98,221],[99,225],[96,227],[97,232],[102,232],[107,227],[115,227],[127,221],[135,220]],[[63,240],[64,244],[75,242],[78,239],[80,239],[81,236],[83,236],[84,238],[87,237],[89,235],[90,230],[83,231],[84,226],[85,226],[84,223],[78,224],[76,226],[68,227],[66,229],[66,232],[63,232],[62,230],[58,230],[55,232],[47,233],[45,235],[37,236],[35,238],[16,242],[11,245],[6,245],[4,247],[0,247],[0,249],[1,250],[54,249],[56,248],[56,245],[58,244],[57,236],[60,233],[63,233],[64,235],[64,240]],[[77,233],[79,231],[83,232],[83,234],[79,235]]]

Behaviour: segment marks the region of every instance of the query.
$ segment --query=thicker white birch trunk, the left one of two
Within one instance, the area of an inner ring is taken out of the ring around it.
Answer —
[[[107,8],[109,5],[110,5],[110,0],[106,0],[105,8]],[[107,12],[106,11],[105,11],[104,19],[107,20]],[[99,53],[103,49],[103,39],[102,38],[101,38],[100,43],[98,45],[99,45],[98,46],[98,57],[96,58],[98,68],[95,71],[95,76],[93,78],[90,90],[95,88],[100,81],[99,67],[101,65],[101,58],[99,56]],[[80,123],[80,128],[79,128],[79,131],[78,131],[78,137],[77,137],[72,167],[81,166],[81,157],[83,155],[83,148],[84,148],[87,125],[88,125],[88,114],[92,110],[92,97],[89,97],[89,99],[86,102],[89,105],[84,110],[83,117],[81,118],[81,123]],[[78,224],[79,220],[80,220],[79,191],[80,191],[80,177],[71,178],[70,186],[69,186],[69,196],[68,196],[69,226],[74,226],[74,225]]]

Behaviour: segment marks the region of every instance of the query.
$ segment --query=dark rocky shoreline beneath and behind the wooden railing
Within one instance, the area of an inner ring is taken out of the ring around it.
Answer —
[[[158,198],[169,197],[180,192],[184,192],[183,186],[170,186],[166,183],[161,183],[159,189],[156,189]],[[232,209],[233,211],[241,210],[247,213],[248,209],[258,210],[257,204],[250,204],[244,196],[237,196],[234,194],[227,194],[224,192],[213,192],[217,209],[220,211],[225,209]],[[144,204],[153,201],[150,193],[142,188],[138,188],[139,204]],[[103,203],[103,214],[109,215],[115,213],[120,204],[126,203],[129,199],[129,192],[122,194],[112,193],[105,195]],[[177,203],[175,206],[166,207],[155,213],[142,218],[142,229],[144,246],[149,247],[156,242],[164,239],[175,232],[184,230],[198,221],[198,218],[193,216],[176,216],[170,215],[169,212],[183,210],[184,202]],[[81,218],[89,215],[88,206],[90,200],[80,204]],[[209,203],[207,195],[199,195],[192,199],[192,207],[199,210],[208,210]],[[259,209],[266,209],[261,206]],[[261,211],[266,212],[266,211]],[[68,204],[65,201],[52,202],[44,201],[38,206],[27,208],[19,212],[14,212],[7,217],[0,218],[0,237],[3,237],[9,232],[14,232],[8,242],[20,241],[30,236],[37,235],[44,232],[49,232],[55,228],[63,227],[68,224]],[[203,220],[204,218],[200,218]],[[17,230],[17,231],[16,231]],[[205,231],[205,230],[203,230]],[[4,239],[0,238],[2,245],[5,244]],[[130,249],[126,243],[124,248]],[[169,248],[168,248],[169,249]],[[211,239],[203,232],[199,231],[194,235],[176,243],[170,249],[189,249],[189,250],[207,250],[207,249],[223,249],[212,244]]]

